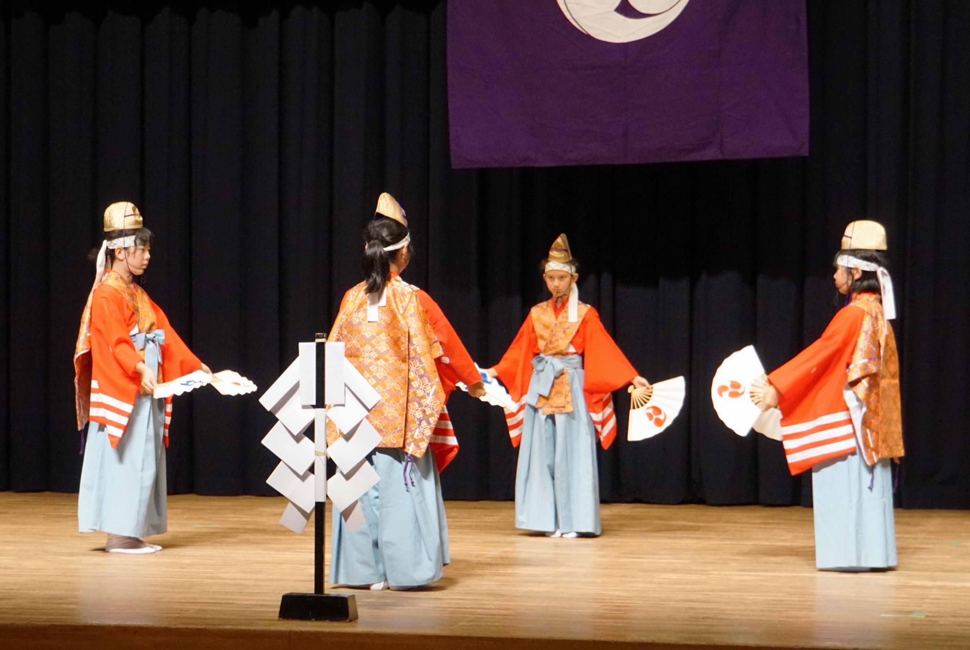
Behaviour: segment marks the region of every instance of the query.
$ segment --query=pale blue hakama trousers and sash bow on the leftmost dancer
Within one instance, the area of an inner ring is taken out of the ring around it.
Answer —
[[[141,337],[146,365],[157,372],[162,337],[156,331]],[[150,395],[135,399],[128,427],[112,448],[104,425],[87,426],[81,489],[78,494],[78,529],[113,535],[145,537],[168,530],[165,475],[165,401]]]

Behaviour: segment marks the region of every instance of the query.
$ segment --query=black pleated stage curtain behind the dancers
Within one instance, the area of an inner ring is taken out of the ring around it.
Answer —
[[[842,228],[883,221],[901,306],[898,499],[970,506],[970,3],[812,0],[808,15],[807,158],[453,171],[443,2],[8,8],[0,489],[78,487],[71,357],[106,205],[146,214],[146,289],[193,349],[265,388],[359,281],[386,189],[412,225],[405,277],[480,363],[542,298],[537,262],[566,231],[583,300],[641,374],[689,377],[656,439],[625,439],[617,394],[604,501],[809,503],[777,442],[721,425],[710,380],[750,342],[773,368],[816,339],[837,309]],[[450,406],[462,453],[445,496],[510,499],[501,411]],[[269,494],[273,422],[254,396],[178,398],[170,489]]]

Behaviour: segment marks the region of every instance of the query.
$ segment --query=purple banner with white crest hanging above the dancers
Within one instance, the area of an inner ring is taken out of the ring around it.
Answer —
[[[808,153],[805,0],[449,0],[453,167]]]

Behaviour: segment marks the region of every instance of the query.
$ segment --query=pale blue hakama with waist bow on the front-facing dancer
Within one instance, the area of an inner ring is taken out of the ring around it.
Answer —
[[[550,361],[551,360],[551,361]],[[569,377],[572,412],[545,415],[534,396],[548,395],[549,374]],[[583,396],[583,359],[568,355],[533,359],[515,472],[515,527],[529,531],[599,535],[597,435]],[[543,377],[542,375],[546,376]]]

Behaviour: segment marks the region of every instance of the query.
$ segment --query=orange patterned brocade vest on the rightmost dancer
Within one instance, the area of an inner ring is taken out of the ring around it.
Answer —
[[[879,296],[859,293],[852,304],[863,309],[865,317],[849,363],[848,380],[865,406],[858,441],[863,459],[871,466],[880,459],[903,455],[899,356]]]

